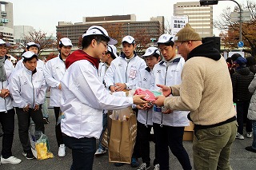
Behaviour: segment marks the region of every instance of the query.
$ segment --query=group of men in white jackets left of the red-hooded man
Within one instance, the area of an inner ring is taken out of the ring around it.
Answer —
[[[73,45],[69,38],[62,38],[58,45],[58,57],[50,60],[45,65],[42,60],[38,59],[40,45],[29,42],[22,53],[22,59],[18,61],[15,68],[12,62],[4,57],[8,45],[8,43],[0,40],[1,51],[3,51],[1,56],[5,59],[2,60],[6,72],[6,80],[3,79],[4,81],[2,81],[0,93],[0,116],[4,129],[1,162],[2,164],[18,164],[21,160],[11,154],[14,136],[14,113],[16,111],[18,117],[18,135],[22,143],[22,154],[28,160],[34,159],[29,138],[30,123],[33,122],[35,125],[35,131],[45,132],[42,104],[46,100],[46,89],[49,86],[50,106],[54,106],[57,123],[62,97],[59,81],[66,71],[65,60],[70,55],[70,49]],[[55,129],[59,146],[58,156],[65,156],[65,144],[62,142],[60,125],[56,124]]]

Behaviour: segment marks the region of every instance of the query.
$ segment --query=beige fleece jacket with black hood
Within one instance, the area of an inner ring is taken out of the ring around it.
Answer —
[[[183,66],[182,84],[173,85],[174,97],[164,105],[171,110],[188,110],[195,125],[218,125],[235,120],[230,73],[214,43],[194,48]]]

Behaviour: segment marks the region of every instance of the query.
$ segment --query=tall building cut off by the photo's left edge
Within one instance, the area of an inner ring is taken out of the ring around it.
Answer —
[[[0,1],[0,36],[6,42],[14,43],[13,3]]]

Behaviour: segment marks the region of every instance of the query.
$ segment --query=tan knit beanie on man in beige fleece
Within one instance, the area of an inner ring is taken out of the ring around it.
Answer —
[[[179,30],[174,38],[174,42],[186,42],[186,41],[202,41],[202,38],[198,33],[191,28],[190,24],[187,23],[186,26]]]

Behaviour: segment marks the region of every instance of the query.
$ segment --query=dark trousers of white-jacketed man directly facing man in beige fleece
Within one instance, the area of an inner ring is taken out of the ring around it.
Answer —
[[[158,146],[158,161],[160,169],[169,170],[169,148],[177,157],[183,169],[192,169],[190,158],[183,147],[182,139],[184,127],[172,127],[159,124],[153,124],[156,144]],[[169,148],[168,148],[169,147]]]

